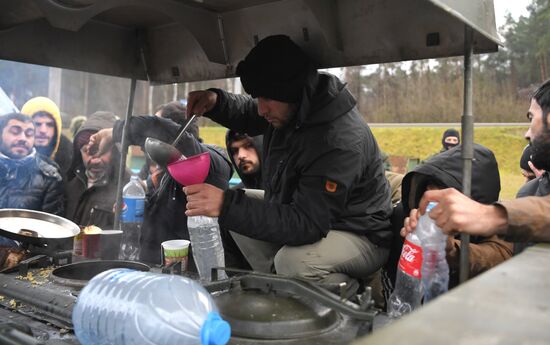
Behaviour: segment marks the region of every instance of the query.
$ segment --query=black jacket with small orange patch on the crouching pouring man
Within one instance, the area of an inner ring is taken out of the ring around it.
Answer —
[[[330,229],[389,245],[391,193],[378,144],[338,78],[309,77],[294,123],[275,129],[250,97],[213,89],[207,116],[251,136],[264,134],[265,201],[225,192],[220,225],[287,245],[314,243]]]

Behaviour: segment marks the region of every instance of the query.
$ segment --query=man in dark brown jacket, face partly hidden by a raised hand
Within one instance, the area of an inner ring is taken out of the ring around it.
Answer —
[[[113,227],[120,153],[115,145],[103,154],[93,152],[88,142],[99,130],[113,127],[116,120],[113,113],[98,111],[88,117],[74,138],[75,158],[65,194],[67,218],[76,224]],[[128,180],[127,171],[124,181]]]

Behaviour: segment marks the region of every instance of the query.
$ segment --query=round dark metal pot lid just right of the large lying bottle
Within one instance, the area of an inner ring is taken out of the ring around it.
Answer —
[[[327,332],[340,322],[334,310],[281,291],[234,289],[215,300],[235,337],[295,339]]]

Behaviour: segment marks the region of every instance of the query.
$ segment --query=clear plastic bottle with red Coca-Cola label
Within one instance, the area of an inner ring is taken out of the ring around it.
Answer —
[[[395,288],[388,302],[388,316],[401,317],[418,308],[422,302],[422,243],[417,231],[405,238],[397,265]]]

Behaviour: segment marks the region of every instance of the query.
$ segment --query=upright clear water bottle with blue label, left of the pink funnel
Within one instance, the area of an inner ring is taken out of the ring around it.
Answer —
[[[143,223],[143,209],[145,207],[145,190],[137,176],[132,176],[122,190],[124,205],[121,214],[122,241],[119,259],[139,260],[139,237]]]

